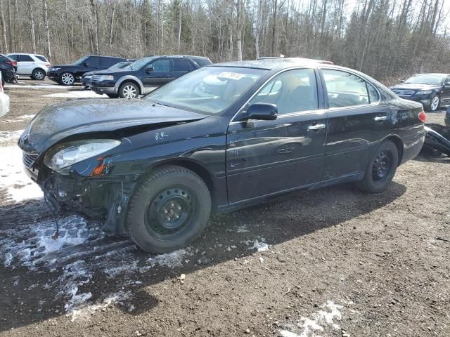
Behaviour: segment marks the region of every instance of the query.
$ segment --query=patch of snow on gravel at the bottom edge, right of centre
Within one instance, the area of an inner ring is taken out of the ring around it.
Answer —
[[[322,334],[324,331],[331,329],[339,330],[340,326],[335,320],[340,321],[342,315],[340,310],[344,307],[328,300],[323,305],[323,310],[319,310],[311,315],[311,318],[301,317],[300,322],[295,326],[288,324],[289,329],[278,331],[282,337],[314,337],[319,336],[318,331]]]

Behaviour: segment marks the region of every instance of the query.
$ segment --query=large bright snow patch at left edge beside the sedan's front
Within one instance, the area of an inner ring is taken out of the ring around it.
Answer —
[[[0,147],[0,152],[2,154],[0,188],[3,187],[7,190],[8,199],[19,202],[44,197],[39,185],[34,183],[23,171],[20,148],[18,146]]]

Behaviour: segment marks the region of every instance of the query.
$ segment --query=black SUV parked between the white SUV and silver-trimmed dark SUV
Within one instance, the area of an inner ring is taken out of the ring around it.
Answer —
[[[113,56],[86,55],[76,60],[72,65],[55,65],[50,68],[48,76],[63,86],[71,86],[76,81],[81,81],[85,72],[105,70],[119,62],[126,62],[126,58]]]

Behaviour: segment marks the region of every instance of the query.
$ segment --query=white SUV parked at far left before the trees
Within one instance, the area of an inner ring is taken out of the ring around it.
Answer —
[[[45,56],[37,54],[11,53],[8,58],[17,61],[17,72],[20,76],[30,76],[39,81],[45,79],[50,69],[50,62]]]

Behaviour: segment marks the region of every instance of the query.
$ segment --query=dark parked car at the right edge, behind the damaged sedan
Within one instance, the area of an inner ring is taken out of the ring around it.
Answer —
[[[416,74],[391,89],[401,98],[422,103],[428,111],[450,104],[450,74]]]

